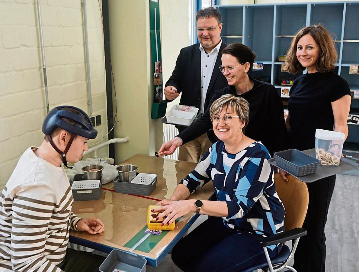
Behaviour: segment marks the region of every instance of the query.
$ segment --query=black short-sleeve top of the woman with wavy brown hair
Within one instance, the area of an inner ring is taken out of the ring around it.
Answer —
[[[288,101],[290,148],[314,148],[317,128],[333,130],[331,102],[346,94],[350,95],[348,82],[332,71],[307,73],[295,79]]]

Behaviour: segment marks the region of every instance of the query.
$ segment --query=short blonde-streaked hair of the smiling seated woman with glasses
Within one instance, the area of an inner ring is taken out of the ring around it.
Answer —
[[[237,112],[241,122],[246,122],[242,128],[242,132],[244,133],[244,129],[246,128],[249,121],[249,104],[247,100],[240,96],[234,96],[233,94],[224,94],[213,102],[209,109],[209,113],[211,116],[219,115],[224,107],[233,110],[234,113]]]

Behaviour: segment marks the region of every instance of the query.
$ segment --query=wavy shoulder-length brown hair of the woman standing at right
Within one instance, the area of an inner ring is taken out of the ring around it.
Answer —
[[[321,24],[299,29],[292,40],[290,48],[287,52],[286,62],[288,63],[288,72],[296,74],[305,68],[299,63],[297,58],[297,45],[300,38],[310,34],[320,49],[317,60],[317,70],[320,73],[327,73],[335,68],[335,62],[338,58],[337,51],[334,47],[334,41],[329,32]]]

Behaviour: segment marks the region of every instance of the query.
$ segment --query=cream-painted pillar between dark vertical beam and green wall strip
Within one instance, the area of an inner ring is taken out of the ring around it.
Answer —
[[[151,119],[153,73],[149,1],[109,1],[111,60],[117,95],[116,163],[135,154],[154,155],[163,141],[160,119]],[[115,105],[115,104],[114,104]]]

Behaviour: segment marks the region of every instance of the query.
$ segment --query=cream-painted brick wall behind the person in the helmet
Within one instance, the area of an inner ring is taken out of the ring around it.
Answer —
[[[37,1],[0,0],[0,188],[19,156],[43,140],[45,88]],[[101,3],[101,1],[100,1]],[[89,114],[81,0],[41,0],[50,109],[73,105]],[[107,132],[102,19],[98,0],[87,0],[93,114],[101,114],[100,140]],[[98,151],[108,156],[108,147]]]

